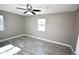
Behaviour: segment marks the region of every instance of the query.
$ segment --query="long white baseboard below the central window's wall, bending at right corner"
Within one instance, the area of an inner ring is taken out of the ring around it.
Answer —
[[[72,50],[72,52],[75,54],[72,46],[69,45],[69,44],[65,44],[65,43],[61,43],[61,42],[56,42],[56,41],[52,41],[52,40],[48,40],[48,39],[44,39],[44,38],[39,38],[39,37],[28,35],[28,34],[26,34],[26,36],[33,37],[33,38],[36,38],[36,39],[40,39],[40,40],[47,41],[47,42],[51,42],[51,43],[55,43],[55,44],[58,44],[58,45],[69,47]]]

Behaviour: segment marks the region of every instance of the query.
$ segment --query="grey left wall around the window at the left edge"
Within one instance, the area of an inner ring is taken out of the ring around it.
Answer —
[[[0,32],[0,39],[25,33],[25,20],[23,16],[0,11],[4,16],[4,31]]]

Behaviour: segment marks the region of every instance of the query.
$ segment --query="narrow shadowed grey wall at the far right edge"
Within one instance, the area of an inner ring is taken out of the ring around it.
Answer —
[[[79,35],[79,10],[77,10],[76,12],[75,12],[75,16],[76,16],[76,18],[75,18],[75,33],[74,33],[74,38],[73,38],[73,40],[72,40],[72,47],[73,47],[73,49],[75,50],[76,49],[76,45],[78,44],[79,45],[79,40],[78,40],[78,35]],[[78,48],[78,47],[77,47]]]

